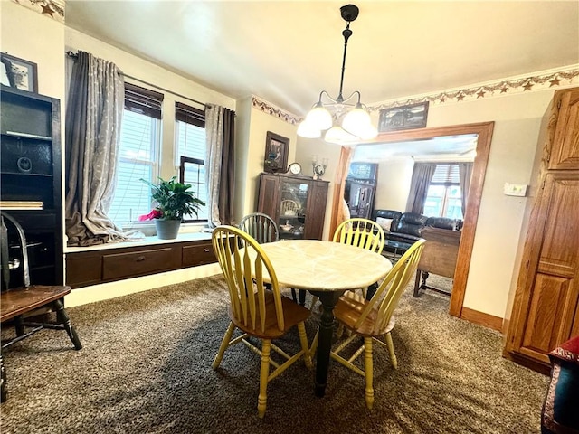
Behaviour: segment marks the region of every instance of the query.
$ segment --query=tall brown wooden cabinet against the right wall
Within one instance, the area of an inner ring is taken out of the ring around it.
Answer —
[[[547,372],[547,354],[579,335],[579,88],[555,91],[544,120],[505,355]]]

